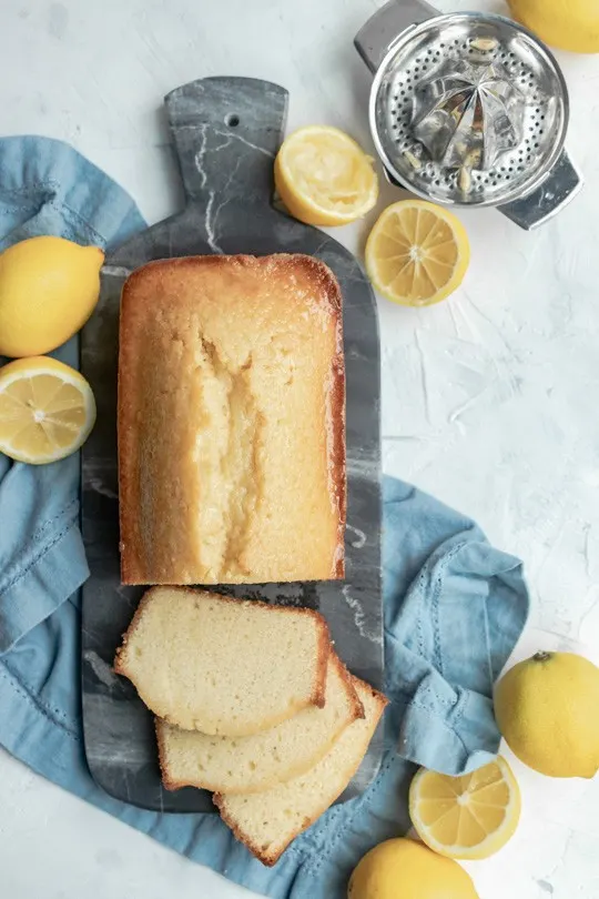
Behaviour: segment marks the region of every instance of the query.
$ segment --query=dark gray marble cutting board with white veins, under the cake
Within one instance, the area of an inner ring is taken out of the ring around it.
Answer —
[[[177,88],[165,107],[185,208],[106,259],[100,303],[82,336],[81,367],[98,401],[98,424],[82,461],[91,568],[83,588],[83,724],[90,770],[106,792],[148,809],[213,811],[203,790],[162,788],[152,716],[131,684],[111,670],[143,592],[121,586],[119,576],[115,403],[123,281],[150,260],[204,253],[309,253],[335,272],[344,297],[347,378],[346,579],[217,589],[321,609],[343,660],[375,687],[383,683],[378,327],[373,292],[354,256],[272,205],[287,92],[266,81],[209,78]],[[365,789],[380,755],[379,728],[343,799]]]

